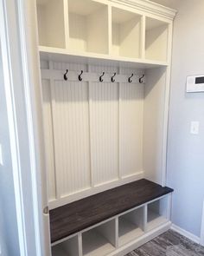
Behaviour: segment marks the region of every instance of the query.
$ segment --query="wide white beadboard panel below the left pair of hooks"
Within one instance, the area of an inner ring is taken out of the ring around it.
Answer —
[[[90,187],[86,82],[54,82],[54,144],[61,196]]]

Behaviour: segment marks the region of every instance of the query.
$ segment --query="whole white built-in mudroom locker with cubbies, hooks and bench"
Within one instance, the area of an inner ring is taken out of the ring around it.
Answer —
[[[175,10],[148,0],[36,0],[36,16],[50,256],[125,255],[171,226]]]

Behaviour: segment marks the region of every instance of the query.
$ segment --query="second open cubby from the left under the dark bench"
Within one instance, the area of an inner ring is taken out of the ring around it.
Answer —
[[[82,233],[82,250],[85,256],[103,256],[116,246],[115,220],[110,220]]]

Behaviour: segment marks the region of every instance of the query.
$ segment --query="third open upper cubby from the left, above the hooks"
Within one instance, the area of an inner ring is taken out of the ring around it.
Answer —
[[[141,16],[112,7],[112,55],[140,57]]]

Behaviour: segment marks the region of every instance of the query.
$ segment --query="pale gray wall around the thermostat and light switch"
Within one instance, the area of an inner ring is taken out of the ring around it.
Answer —
[[[174,25],[169,116],[168,185],[175,189],[172,220],[200,237],[204,200],[204,93],[185,93],[186,76],[204,74],[204,1],[157,0],[178,10]],[[200,134],[190,134],[200,121]]]

